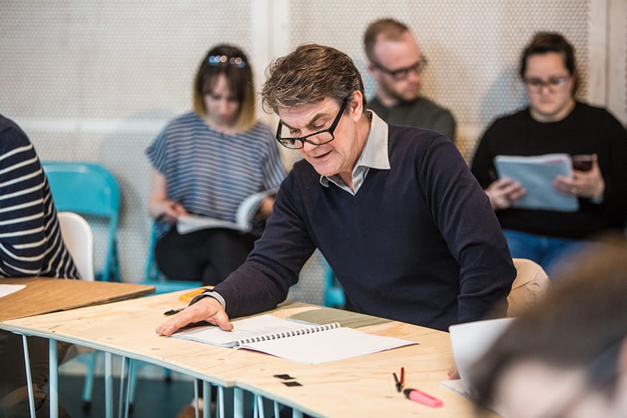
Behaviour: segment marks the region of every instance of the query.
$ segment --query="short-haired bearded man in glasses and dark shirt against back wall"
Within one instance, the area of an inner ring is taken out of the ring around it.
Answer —
[[[364,49],[377,82],[369,109],[387,123],[425,127],[455,141],[451,112],[420,95],[427,61],[408,26],[394,19],[372,22],[364,33]]]

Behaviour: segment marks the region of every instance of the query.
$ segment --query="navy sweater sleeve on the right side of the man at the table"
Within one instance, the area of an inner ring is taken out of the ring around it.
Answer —
[[[432,142],[418,167],[428,206],[460,266],[458,322],[504,316],[516,269],[488,197],[443,137]]]

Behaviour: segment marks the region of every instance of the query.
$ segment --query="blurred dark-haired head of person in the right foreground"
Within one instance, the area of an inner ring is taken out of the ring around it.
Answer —
[[[564,280],[474,366],[481,405],[506,417],[627,417],[627,245],[579,254]]]

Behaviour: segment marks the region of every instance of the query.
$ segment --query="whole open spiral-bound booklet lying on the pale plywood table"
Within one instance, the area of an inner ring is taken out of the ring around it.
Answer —
[[[268,314],[235,320],[232,331],[203,326],[173,336],[215,346],[247,348],[309,364],[417,344],[390,336],[367,334],[341,327],[339,323],[318,325]]]

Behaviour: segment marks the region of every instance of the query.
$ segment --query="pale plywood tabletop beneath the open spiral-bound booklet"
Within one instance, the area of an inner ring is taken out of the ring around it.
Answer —
[[[453,364],[449,334],[383,318],[318,307],[284,304],[276,316],[314,323],[339,322],[418,345],[323,364],[301,364],[248,350],[220,348],[158,336],[164,311],[183,307],[174,292],[111,304],[8,320],[15,332],[79,343],[167,367],[222,387],[237,387],[289,405],[314,417],[472,417],[474,405],[440,385]],[[405,367],[405,387],[444,401],[429,408],[396,392],[392,372]],[[275,374],[287,373],[302,386],[288,387]],[[298,415],[298,412],[297,414]]]

